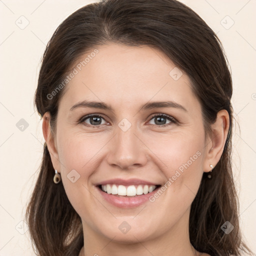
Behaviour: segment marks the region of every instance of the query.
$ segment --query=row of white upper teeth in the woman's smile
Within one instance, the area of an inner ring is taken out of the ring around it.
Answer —
[[[115,184],[105,184],[101,185],[101,190],[107,192],[108,194],[118,194],[135,196],[141,194],[147,194],[152,192],[156,188],[155,185],[115,185]]]

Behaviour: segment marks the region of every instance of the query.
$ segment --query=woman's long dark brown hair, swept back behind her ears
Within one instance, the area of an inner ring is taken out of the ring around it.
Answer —
[[[58,104],[66,88],[54,91],[85,52],[107,43],[148,45],[165,53],[184,71],[200,102],[205,134],[216,114],[226,109],[229,130],[220,160],[208,179],[203,173],[191,204],[189,238],[194,248],[210,255],[250,254],[241,239],[238,197],[231,169],[232,81],[222,44],[193,10],[177,0],[102,0],[69,15],[54,31],[43,53],[34,103],[39,115],[50,113],[55,134]],[[68,84],[67,84],[68,86]],[[39,175],[26,208],[32,245],[37,255],[78,255],[83,246],[80,216],[62,182],[53,183],[54,168],[46,143]],[[225,221],[233,230],[225,234]],[[251,254],[250,254],[251,255]]]

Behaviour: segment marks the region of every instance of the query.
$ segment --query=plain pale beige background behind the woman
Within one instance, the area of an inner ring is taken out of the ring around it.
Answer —
[[[0,0],[0,256],[34,255],[22,219],[44,141],[33,109],[39,60],[59,23],[89,2],[93,1]],[[182,2],[217,33],[231,66],[232,103],[240,125],[240,131],[235,125],[233,136],[233,170],[242,232],[256,252],[256,0]]]

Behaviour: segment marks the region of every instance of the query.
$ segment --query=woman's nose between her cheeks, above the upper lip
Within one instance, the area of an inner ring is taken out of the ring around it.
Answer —
[[[124,170],[138,168],[147,162],[146,141],[135,133],[135,125],[126,131],[117,126],[116,134],[109,143],[107,162]]]

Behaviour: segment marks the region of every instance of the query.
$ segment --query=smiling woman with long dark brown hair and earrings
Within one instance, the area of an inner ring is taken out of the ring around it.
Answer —
[[[241,255],[232,83],[175,0],[105,0],[56,29],[35,104],[45,138],[26,218],[38,255]]]

